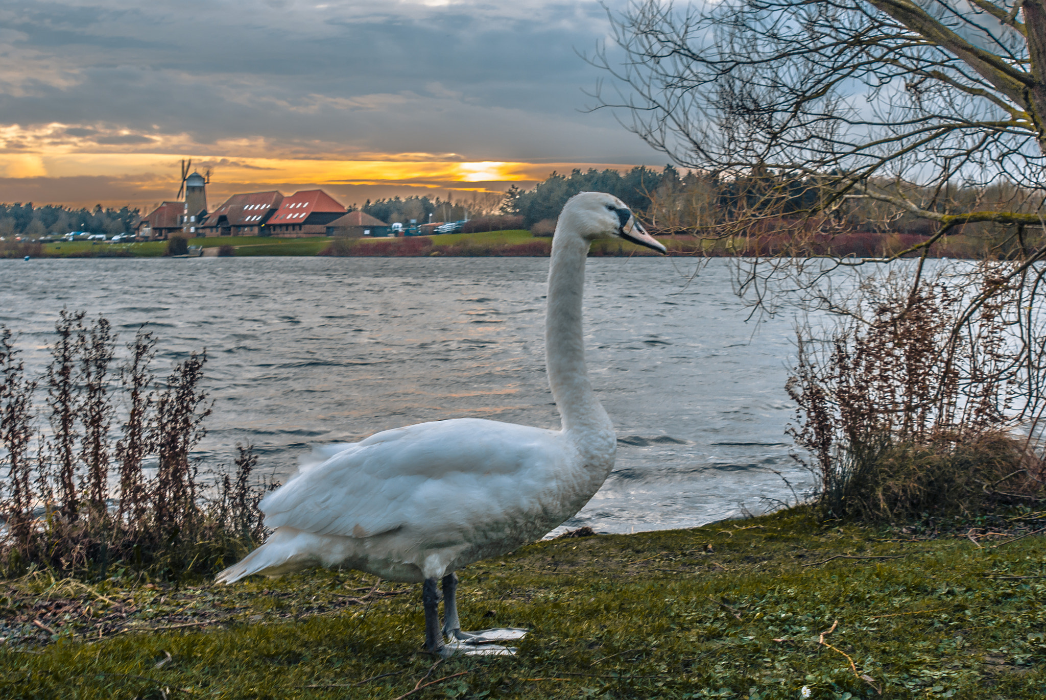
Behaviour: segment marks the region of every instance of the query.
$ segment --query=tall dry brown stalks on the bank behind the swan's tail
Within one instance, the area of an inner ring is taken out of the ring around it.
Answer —
[[[100,579],[112,570],[178,579],[222,568],[264,536],[250,478],[250,447],[237,445],[234,477],[208,487],[191,452],[210,402],[205,353],[190,353],[155,381],[152,334],[127,345],[118,375],[116,336],[99,317],[63,311],[46,389],[50,435],[36,435],[38,382],[25,377],[14,336],[0,325],[0,573],[33,567]],[[113,444],[116,407],[119,433]],[[143,466],[158,468],[147,478]],[[115,490],[110,484],[116,484]]]

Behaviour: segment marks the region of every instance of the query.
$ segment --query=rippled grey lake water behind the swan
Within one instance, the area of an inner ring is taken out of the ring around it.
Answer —
[[[783,390],[793,319],[747,320],[729,261],[590,258],[592,383],[617,466],[566,526],[693,526],[793,500]],[[207,348],[204,465],[253,443],[286,478],[310,443],[474,416],[558,428],[545,378],[547,258],[245,257],[0,261],[0,323],[30,371],[59,311],[159,339],[157,368]],[[158,372],[159,374],[159,372]],[[772,502],[772,501],[770,501]]]

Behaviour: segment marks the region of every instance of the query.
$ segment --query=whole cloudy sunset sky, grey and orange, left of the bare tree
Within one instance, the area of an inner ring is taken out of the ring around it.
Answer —
[[[0,202],[144,208],[182,158],[212,204],[664,165],[586,110],[608,30],[589,0],[0,0]]]

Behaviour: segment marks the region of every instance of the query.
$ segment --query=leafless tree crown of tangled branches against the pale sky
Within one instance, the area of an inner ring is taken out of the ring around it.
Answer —
[[[938,224],[918,248],[973,222],[1022,243],[1042,224],[1044,0],[644,0],[608,14],[616,46],[589,60],[616,90],[599,85],[596,108],[680,165],[747,179],[749,212],[871,200],[884,219]],[[774,186],[751,186],[766,174]],[[956,197],[1000,183],[1003,200]]]

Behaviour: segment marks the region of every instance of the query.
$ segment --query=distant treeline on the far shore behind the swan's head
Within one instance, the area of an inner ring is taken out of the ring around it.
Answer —
[[[1008,182],[990,186],[954,183],[945,188],[896,182],[876,184],[897,199],[945,214],[983,210],[1033,212],[1042,207],[1044,199],[1042,193]],[[839,195],[846,193],[837,190],[837,183],[831,176],[815,177],[771,168],[730,176],[693,171],[681,173],[670,165],[661,172],[634,167],[623,174],[591,168],[587,172],[574,170],[570,175],[552,173],[528,190],[514,186],[505,194],[501,210],[521,216],[523,226],[535,234],[550,235],[555,218],[568,199],[581,191],[607,191],[639,212],[659,233],[698,234],[710,239],[773,236],[776,240],[783,236],[793,242],[810,239],[821,247],[821,239],[825,235],[928,236],[939,227],[935,221],[888,202],[852,194],[840,201]],[[1011,225],[984,222],[956,226],[950,234],[987,242],[1023,240],[1025,236]],[[816,254],[823,254],[823,251]],[[983,254],[987,253],[982,251],[976,256]],[[1002,255],[1006,251],[1000,249],[993,254]]]

